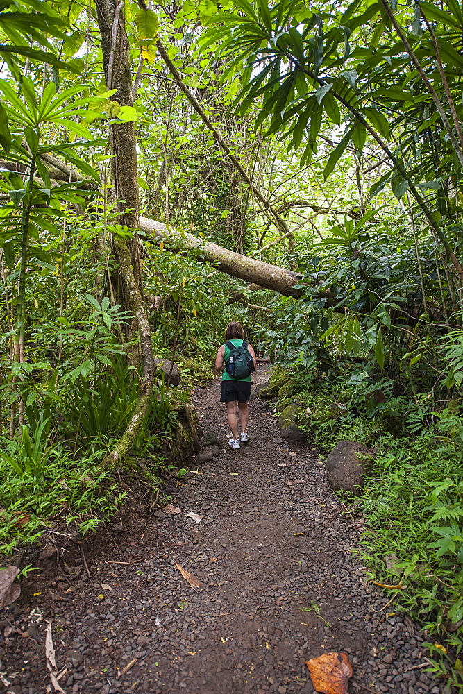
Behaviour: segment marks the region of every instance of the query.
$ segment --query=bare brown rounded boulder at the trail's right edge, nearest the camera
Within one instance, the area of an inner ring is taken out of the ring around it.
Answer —
[[[328,482],[331,489],[344,489],[359,494],[364,486],[368,462],[359,456],[371,455],[367,446],[357,441],[339,441],[326,459]]]

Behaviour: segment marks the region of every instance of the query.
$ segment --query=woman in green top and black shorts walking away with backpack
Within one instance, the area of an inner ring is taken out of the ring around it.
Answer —
[[[242,443],[248,443],[247,432],[249,421],[248,400],[251,395],[251,373],[255,371],[257,362],[250,344],[244,339],[241,323],[228,323],[223,344],[215,357],[215,368],[222,374],[220,402],[227,407],[228,424],[231,429],[231,439],[228,445],[241,448]],[[231,375],[233,374],[233,375]],[[238,435],[237,403],[241,433]]]

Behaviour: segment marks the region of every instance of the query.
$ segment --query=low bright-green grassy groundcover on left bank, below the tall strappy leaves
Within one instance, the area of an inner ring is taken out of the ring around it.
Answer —
[[[20,545],[40,538],[53,522],[76,523],[85,534],[108,520],[126,497],[109,470],[101,468],[108,444],[95,440],[76,451],[50,443],[47,421],[31,434],[0,441],[0,552],[10,555]]]

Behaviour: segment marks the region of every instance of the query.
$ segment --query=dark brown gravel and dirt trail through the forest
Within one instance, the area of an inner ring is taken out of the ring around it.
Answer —
[[[91,580],[71,546],[60,557],[66,580],[56,555],[44,558],[1,611],[3,691],[54,691],[51,621],[66,694],[312,693],[304,661],[330,650],[349,654],[351,692],[438,694],[423,634],[367,583],[359,520],[333,496],[319,457],[290,450],[259,400],[249,445],[227,450],[218,400],[218,381],[195,398],[224,451],[172,489],[180,514],[132,506],[100,543],[84,543]]]

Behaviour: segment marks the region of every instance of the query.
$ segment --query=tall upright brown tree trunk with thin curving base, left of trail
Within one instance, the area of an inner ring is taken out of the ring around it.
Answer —
[[[118,101],[121,106],[133,106],[131,60],[125,28],[124,0],[95,1],[106,85],[108,90],[117,89],[112,96],[113,101]],[[119,221],[136,232],[139,200],[135,124],[130,121],[112,125],[110,128],[112,183],[119,206]],[[151,404],[155,374],[151,332],[143,300],[140,246],[137,235],[135,233],[135,237],[129,243],[122,237],[115,236],[113,243],[124,287],[124,304],[133,313],[140,336],[142,378],[135,412],[117,446],[106,457],[106,464],[123,459],[135,441]]]

